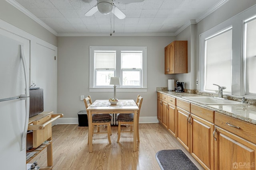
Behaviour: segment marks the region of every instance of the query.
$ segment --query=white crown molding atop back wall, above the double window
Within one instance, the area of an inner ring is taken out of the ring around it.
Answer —
[[[175,33],[58,33],[58,37],[175,36]]]

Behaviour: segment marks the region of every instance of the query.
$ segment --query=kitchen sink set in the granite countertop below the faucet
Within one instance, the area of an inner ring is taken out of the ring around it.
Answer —
[[[215,98],[212,96],[184,96],[182,98],[192,100],[194,102],[200,102],[206,105],[250,105],[234,100]]]

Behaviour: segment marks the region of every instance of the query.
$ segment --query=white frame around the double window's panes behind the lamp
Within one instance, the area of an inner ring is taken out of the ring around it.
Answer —
[[[121,51],[142,51],[142,70],[140,86],[116,86],[116,92],[147,92],[147,47],[90,46],[89,92],[112,92],[113,86],[95,86],[94,51],[116,51],[116,69],[114,76],[122,81]],[[121,82],[122,84],[122,82]]]

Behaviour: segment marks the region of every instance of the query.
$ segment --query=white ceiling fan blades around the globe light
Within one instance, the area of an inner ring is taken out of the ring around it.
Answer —
[[[133,2],[143,2],[144,0],[97,0],[97,4],[92,7],[85,16],[92,16],[99,11],[101,14],[109,14],[112,12],[117,18],[124,19],[126,15],[114,4],[128,4]]]

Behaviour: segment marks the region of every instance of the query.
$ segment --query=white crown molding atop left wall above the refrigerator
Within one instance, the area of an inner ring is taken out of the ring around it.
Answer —
[[[6,0],[6,2],[8,2],[9,4],[11,4],[12,6],[14,6],[15,8],[17,8],[18,10],[20,10],[21,12],[23,12],[26,16],[28,16],[29,18],[31,18],[32,20],[36,21],[38,24],[40,24],[42,27],[44,27],[45,29],[47,29],[48,31],[50,31],[51,33],[53,33],[55,36],[58,35],[58,33],[56,31],[54,31],[54,29],[52,29],[51,27],[49,27],[48,25],[46,25],[46,23],[44,23],[42,20],[38,19],[36,16],[34,16],[34,14],[32,14],[31,12],[29,12],[28,10],[26,10],[23,6],[21,6],[18,2],[16,2],[15,0]]]

